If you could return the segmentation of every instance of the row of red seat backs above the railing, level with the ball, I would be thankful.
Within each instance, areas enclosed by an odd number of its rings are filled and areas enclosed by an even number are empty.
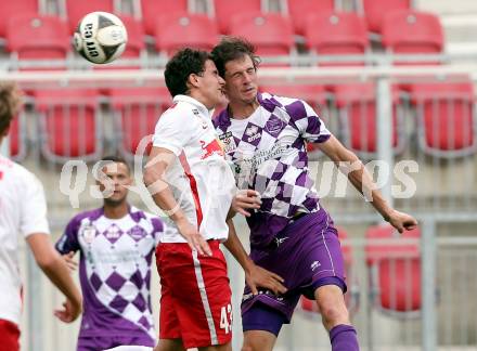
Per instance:
[[[129,34],[129,43],[124,57],[143,56],[146,49],[145,34],[152,35],[155,39],[155,50],[166,55],[171,55],[185,46],[210,50],[219,39],[220,23],[216,23],[205,14],[173,11],[153,13],[154,24],[151,24],[153,29],[149,28],[149,25],[143,27],[132,17],[121,16]],[[382,17],[382,42],[389,52],[398,54],[442,52],[442,28],[439,18],[435,15],[412,10],[397,10],[388,11]],[[75,22],[70,22],[68,27],[68,24],[59,16],[40,16],[28,12],[12,15],[4,21],[7,50],[17,60],[65,60],[72,50],[70,34],[77,22],[75,16],[72,18],[75,18]],[[293,55],[297,51],[294,23],[287,16],[280,13],[241,11],[227,16],[227,31],[248,38],[261,56]],[[299,23],[302,26],[300,30],[305,37],[305,48],[311,53],[364,55],[370,51],[365,21],[357,13],[308,12]],[[339,64],[343,63],[328,62],[322,65]],[[347,64],[363,65],[364,57]]]

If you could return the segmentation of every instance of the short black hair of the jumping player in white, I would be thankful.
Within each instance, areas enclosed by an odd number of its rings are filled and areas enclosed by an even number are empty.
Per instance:
[[[164,72],[164,78],[172,98],[189,92],[189,76],[203,73],[207,60],[211,60],[208,52],[190,48],[180,50],[169,60]]]

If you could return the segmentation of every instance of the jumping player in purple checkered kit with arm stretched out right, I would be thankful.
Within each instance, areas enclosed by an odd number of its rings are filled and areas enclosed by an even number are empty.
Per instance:
[[[399,232],[414,218],[390,208],[373,186],[358,157],[330,133],[317,113],[299,99],[259,93],[258,56],[253,46],[227,37],[211,52],[225,80],[229,105],[214,121],[240,188],[261,194],[261,207],[247,218],[250,257],[285,280],[287,292],[250,294],[242,301],[243,350],[272,350],[301,295],[314,299],[333,351],[359,350],[345,306],[344,259],[337,231],[320,206],[308,172],[306,143],[317,143],[335,162],[359,165],[349,180],[371,194],[373,207]]]

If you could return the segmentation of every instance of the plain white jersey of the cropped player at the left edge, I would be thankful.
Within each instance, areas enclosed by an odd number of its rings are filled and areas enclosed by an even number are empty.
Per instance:
[[[22,311],[18,234],[50,233],[39,180],[0,155],[0,320],[20,324]]]

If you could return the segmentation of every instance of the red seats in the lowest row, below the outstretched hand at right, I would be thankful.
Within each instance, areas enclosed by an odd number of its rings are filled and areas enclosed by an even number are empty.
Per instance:
[[[348,283],[346,303],[350,313],[359,307],[359,286],[354,284],[352,248],[347,243],[348,235],[338,229],[345,257]],[[418,239],[418,229],[398,234],[390,225],[376,225],[368,229],[365,239],[365,260],[370,271],[370,297],[372,306],[383,313],[398,317],[414,317],[422,307],[421,257],[417,243],[386,243],[391,239]],[[320,312],[317,303],[301,298],[300,308],[305,312]]]

